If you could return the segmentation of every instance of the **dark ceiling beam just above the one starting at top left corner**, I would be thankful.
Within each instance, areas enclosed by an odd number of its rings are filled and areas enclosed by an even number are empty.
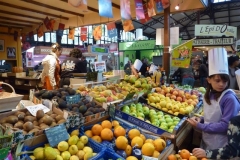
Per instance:
[[[55,6],[51,6],[51,5],[48,5],[48,4],[44,4],[44,3],[41,3],[41,2],[37,2],[37,1],[33,1],[33,0],[21,0],[21,1],[26,2],[26,3],[30,3],[30,4],[33,4],[33,5],[45,7],[45,8],[51,9],[51,10],[55,10],[55,11],[59,11],[59,12],[67,13],[67,14],[72,14],[72,15],[75,15],[75,16],[84,17],[83,14],[80,14],[80,13],[77,13],[77,12],[72,12],[72,11],[69,11],[69,10],[65,10],[65,9],[55,7]]]

